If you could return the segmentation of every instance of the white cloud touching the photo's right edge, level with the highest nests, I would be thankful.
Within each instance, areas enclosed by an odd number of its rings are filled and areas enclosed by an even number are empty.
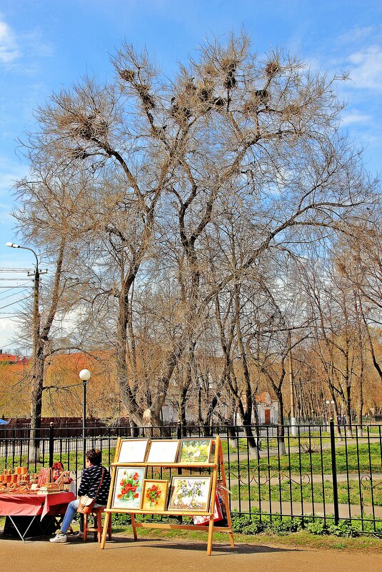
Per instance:
[[[382,46],[374,44],[348,56],[350,77],[360,89],[382,91]]]

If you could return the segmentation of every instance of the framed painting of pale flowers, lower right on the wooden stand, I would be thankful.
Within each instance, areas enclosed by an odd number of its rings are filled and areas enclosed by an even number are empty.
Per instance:
[[[191,514],[208,511],[211,478],[211,475],[173,475],[167,510],[172,513],[189,512]]]

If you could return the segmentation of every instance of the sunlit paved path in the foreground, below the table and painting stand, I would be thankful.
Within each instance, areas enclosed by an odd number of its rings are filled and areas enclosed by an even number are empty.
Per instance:
[[[184,540],[116,539],[101,551],[97,543],[51,544],[0,538],[1,568],[11,572],[381,572],[382,555],[301,547],[240,544],[213,546]]]

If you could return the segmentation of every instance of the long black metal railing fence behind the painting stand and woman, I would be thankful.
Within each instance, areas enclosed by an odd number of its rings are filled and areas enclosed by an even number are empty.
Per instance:
[[[248,428],[247,428],[248,429]],[[364,533],[382,534],[382,427],[215,426],[223,444],[230,505],[240,516],[292,518],[325,525],[350,521]],[[0,470],[28,465],[32,472],[61,461],[80,477],[84,448],[101,448],[104,464],[114,459],[123,437],[180,438],[206,435],[192,426],[50,428],[39,432],[39,446],[29,430],[12,435],[0,430]],[[168,471],[171,475],[171,471]]]

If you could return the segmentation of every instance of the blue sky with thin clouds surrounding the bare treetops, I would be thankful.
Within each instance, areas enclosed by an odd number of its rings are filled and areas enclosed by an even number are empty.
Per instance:
[[[109,55],[126,39],[146,46],[169,75],[207,36],[245,28],[253,48],[263,54],[276,46],[300,56],[314,69],[341,73],[351,81],[339,92],[348,106],[343,129],[366,147],[365,162],[381,169],[382,1],[381,0],[1,0],[0,1],[0,267],[31,266],[33,256],[7,249],[16,241],[9,215],[13,181],[27,164],[17,139],[34,131],[33,111],[52,91],[84,74],[112,78]],[[25,278],[25,275],[17,275]],[[0,274],[0,348],[14,348],[15,306],[31,284],[17,285]],[[29,289],[28,289],[29,288]],[[4,300],[4,301],[2,301]],[[4,313],[9,311],[10,315]]]

